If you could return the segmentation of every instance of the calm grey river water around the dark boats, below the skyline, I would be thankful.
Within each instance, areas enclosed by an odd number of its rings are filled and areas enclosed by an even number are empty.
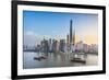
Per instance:
[[[36,60],[35,57],[43,56],[45,54],[35,52],[23,53],[23,68],[35,69],[35,68],[52,68],[52,67],[78,67],[78,66],[96,66],[98,64],[98,56],[94,54],[87,54],[86,64],[72,62],[68,54],[46,54],[46,59]]]

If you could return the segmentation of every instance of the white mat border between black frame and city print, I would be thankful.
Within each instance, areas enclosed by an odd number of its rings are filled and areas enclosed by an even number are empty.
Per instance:
[[[62,67],[62,68],[41,68],[23,69],[23,10],[29,11],[50,11],[69,13],[97,13],[98,14],[98,66]],[[60,72],[80,72],[102,70],[102,10],[77,9],[77,8],[57,8],[39,5],[17,5],[17,76],[44,75]]]

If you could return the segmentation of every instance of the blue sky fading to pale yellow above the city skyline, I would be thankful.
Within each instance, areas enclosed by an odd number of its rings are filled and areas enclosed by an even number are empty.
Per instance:
[[[23,11],[24,43],[37,44],[44,37],[66,39],[70,20],[73,21],[76,43],[80,41],[86,44],[98,43],[97,14]]]

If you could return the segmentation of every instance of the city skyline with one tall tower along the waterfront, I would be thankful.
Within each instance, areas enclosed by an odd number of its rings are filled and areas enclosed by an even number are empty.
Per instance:
[[[46,39],[44,38],[40,44],[35,46],[23,46],[24,50],[34,50],[34,52],[43,52],[43,53],[73,53],[73,52],[84,52],[84,53],[98,53],[98,45],[84,44],[82,41],[75,43],[75,30],[72,28],[72,20],[70,21],[70,33],[66,35],[65,39]]]

